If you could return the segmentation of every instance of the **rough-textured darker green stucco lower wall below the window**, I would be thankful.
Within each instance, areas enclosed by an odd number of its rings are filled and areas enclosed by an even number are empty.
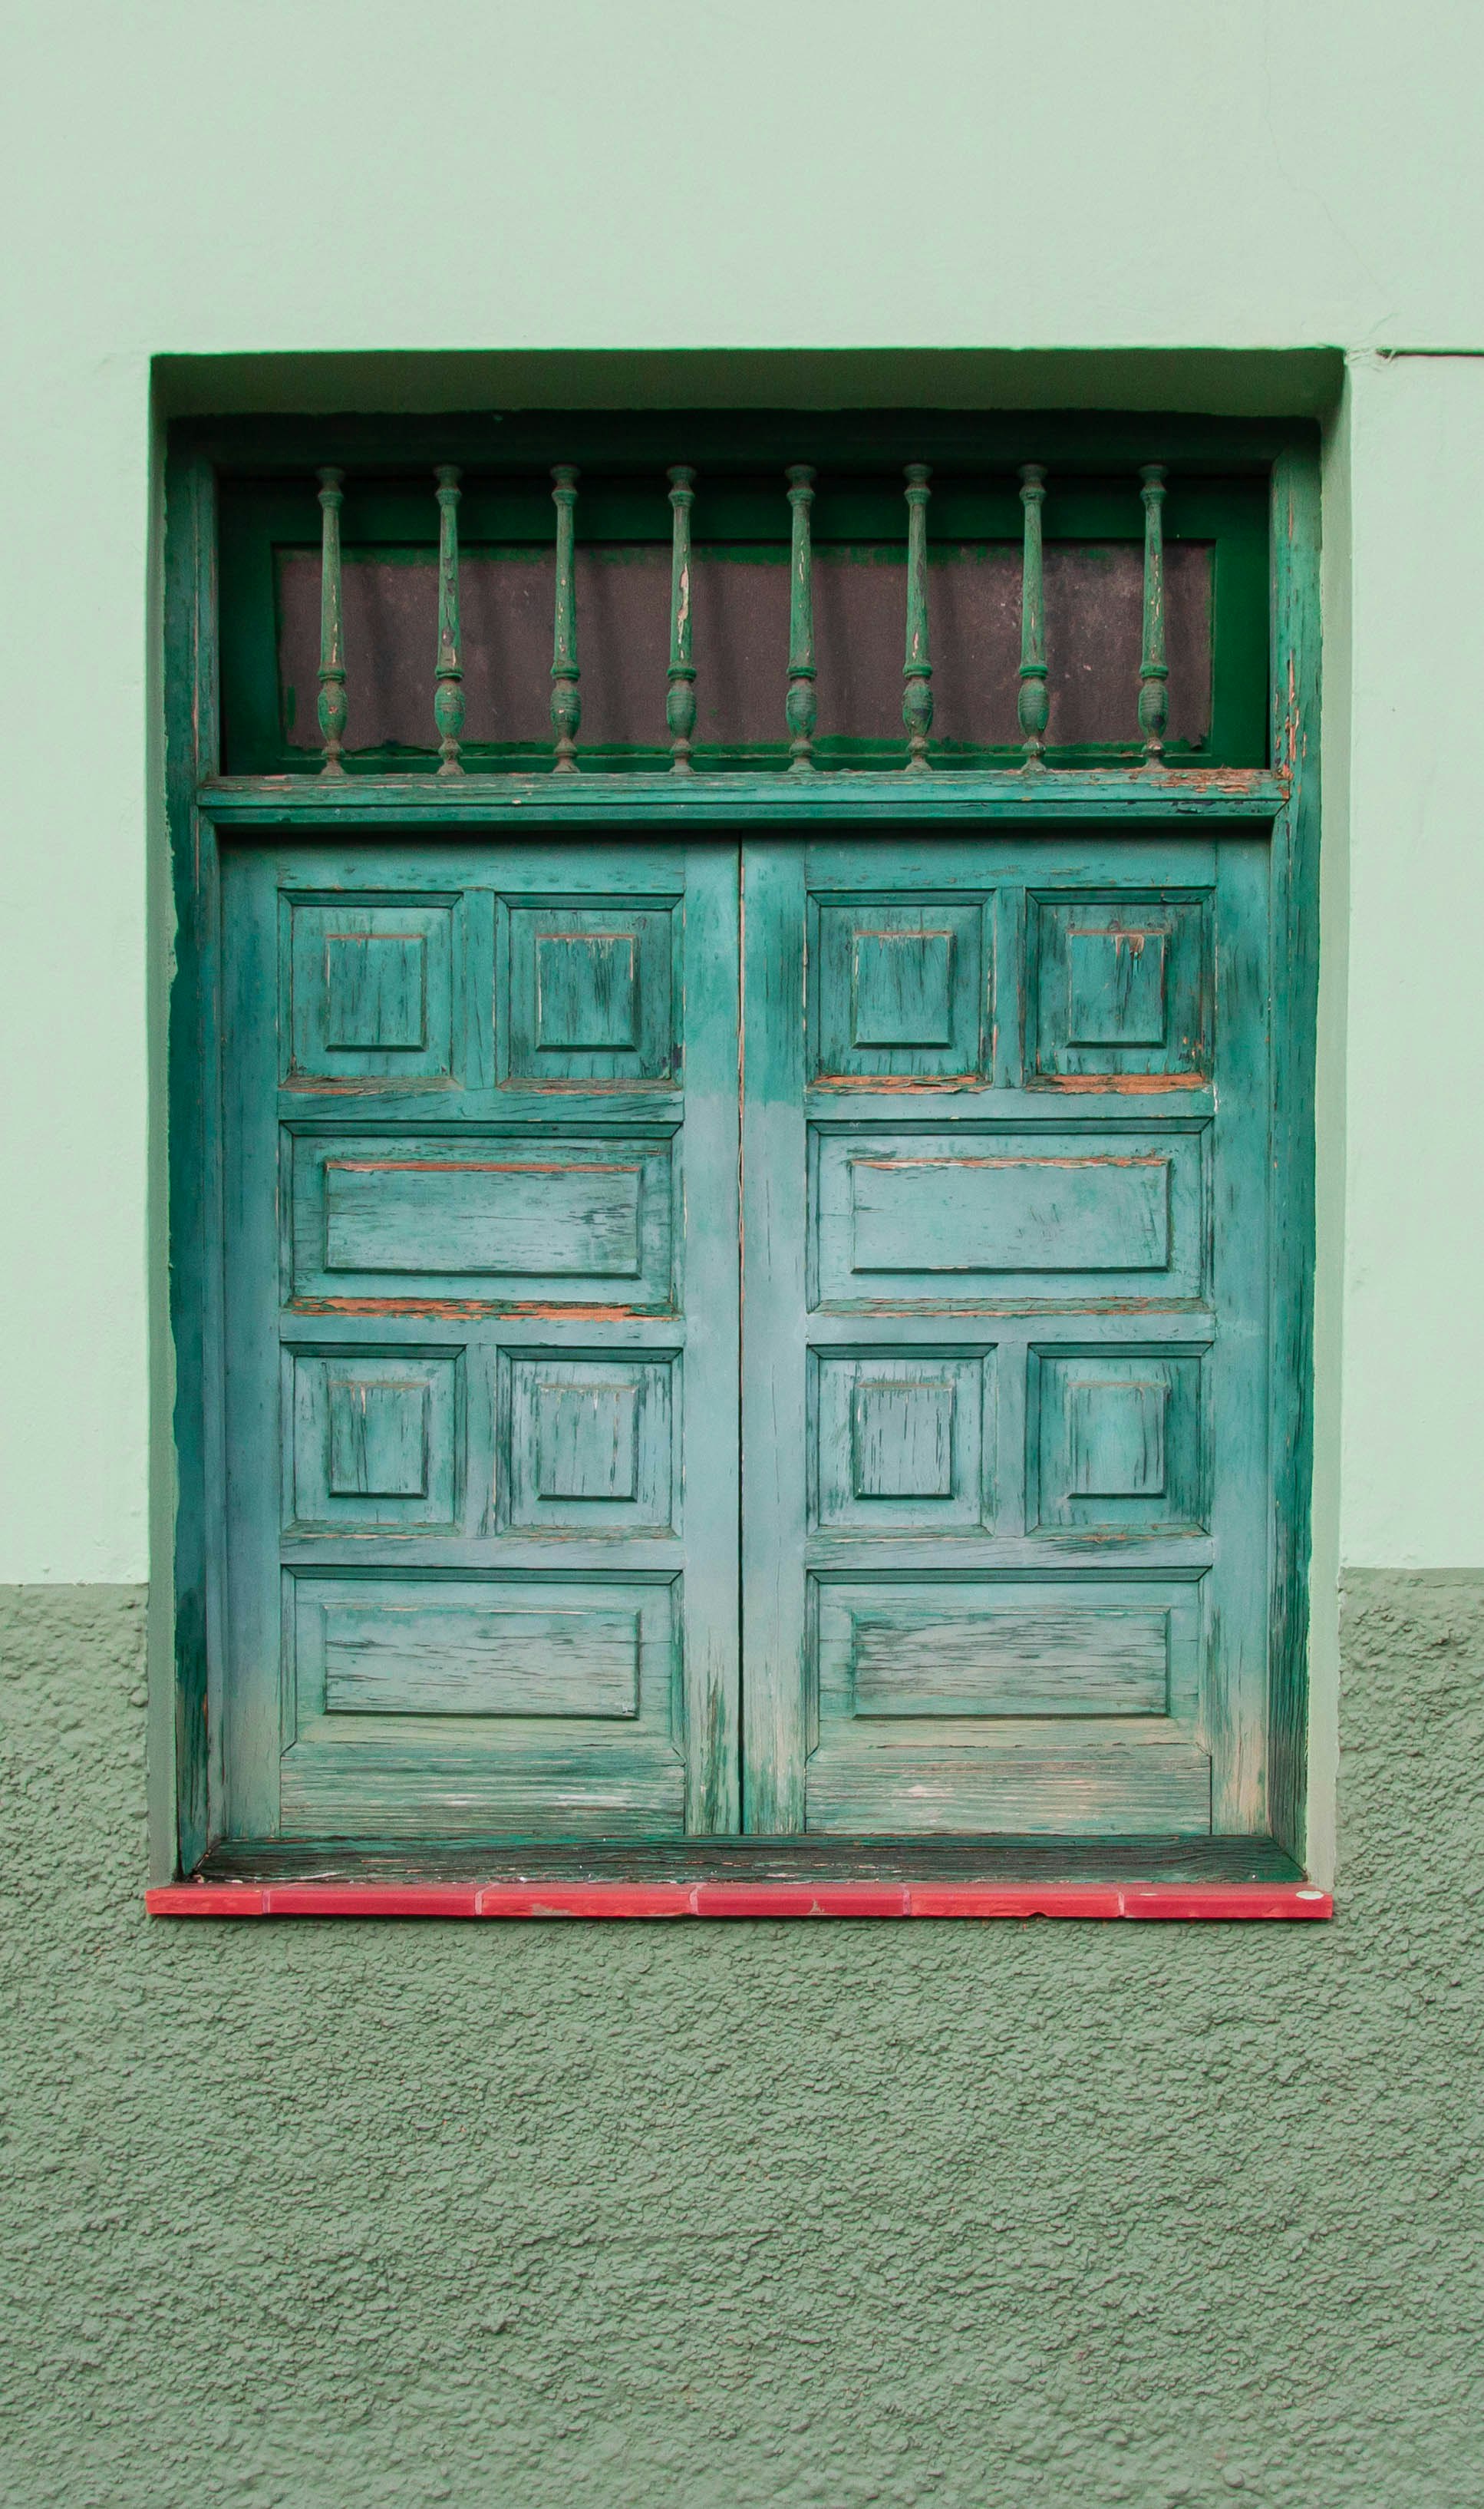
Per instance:
[[[1331,1927],[150,1924],[143,1596],[0,1666],[8,2509],[1484,2496],[1484,1578]]]

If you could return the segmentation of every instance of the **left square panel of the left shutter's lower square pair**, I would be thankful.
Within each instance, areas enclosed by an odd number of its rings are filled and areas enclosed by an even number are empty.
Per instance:
[[[291,1533],[429,1533],[459,1518],[459,1350],[286,1350]]]

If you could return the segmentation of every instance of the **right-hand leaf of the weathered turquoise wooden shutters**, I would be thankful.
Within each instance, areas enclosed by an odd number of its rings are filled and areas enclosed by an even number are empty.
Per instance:
[[[745,848],[757,1832],[1263,1822],[1266,848]]]

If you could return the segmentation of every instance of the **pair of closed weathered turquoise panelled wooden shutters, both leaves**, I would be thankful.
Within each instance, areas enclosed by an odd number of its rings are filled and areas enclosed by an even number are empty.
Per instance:
[[[238,846],[236,1837],[1266,1817],[1243,835]]]

